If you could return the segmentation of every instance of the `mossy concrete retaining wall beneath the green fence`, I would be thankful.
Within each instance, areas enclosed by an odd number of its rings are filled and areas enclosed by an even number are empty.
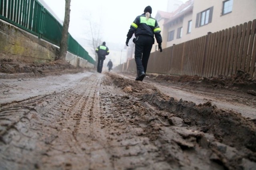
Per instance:
[[[59,47],[0,20],[0,58],[26,63],[47,63],[57,59],[58,53]],[[66,61],[75,67],[94,67],[87,60],[69,52],[67,52]]]

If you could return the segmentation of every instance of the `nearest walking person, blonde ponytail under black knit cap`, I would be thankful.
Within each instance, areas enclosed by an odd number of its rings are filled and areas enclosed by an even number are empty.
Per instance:
[[[142,81],[145,77],[147,70],[148,59],[152,45],[154,44],[154,36],[158,43],[158,49],[162,52],[162,36],[160,34],[161,29],[158,26],[157,21],[151,17],[152,8],[147,6],[144,9],[144,13],[137,16],[134,22],[130,26],[130,30],[127,34],[126,45],[132,35],[135,34],[135,62],[137,66],[137,74],[135,80]]]

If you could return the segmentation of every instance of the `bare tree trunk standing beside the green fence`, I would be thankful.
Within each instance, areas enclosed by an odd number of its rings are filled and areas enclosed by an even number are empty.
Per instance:
[[[65,17],[64,17],[64,23],[62,28],[62,38],[60,42],[60,53],[59,53],[59,59],[65,59],[66,53],[68,50],[68,27],[69,27],[69,21],[70,21],[70,2],[71,0],[65,0]]]

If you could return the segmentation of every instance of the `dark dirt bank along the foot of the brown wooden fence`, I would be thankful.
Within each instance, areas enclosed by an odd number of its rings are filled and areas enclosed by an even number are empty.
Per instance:
[[[173,83],[178,85],[190,85],[193,87],[207,87],[212,89],[228,89],[241,91],[256,96],[256,77],[252,77],[243,70],[238,70],[236,75],[218,77],[199,76],[172,76],[172,75],[150,75],[149,77],[160,82]]]

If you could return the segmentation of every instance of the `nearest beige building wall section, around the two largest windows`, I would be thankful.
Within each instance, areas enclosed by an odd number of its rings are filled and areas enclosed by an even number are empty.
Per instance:
[[[194,0],[191,38],[205,36],[256,19],[256,0],[233,0],[232,12],[222,16],[224,0]],[[214,6],[212,22],[196,27],[196,14]]]

